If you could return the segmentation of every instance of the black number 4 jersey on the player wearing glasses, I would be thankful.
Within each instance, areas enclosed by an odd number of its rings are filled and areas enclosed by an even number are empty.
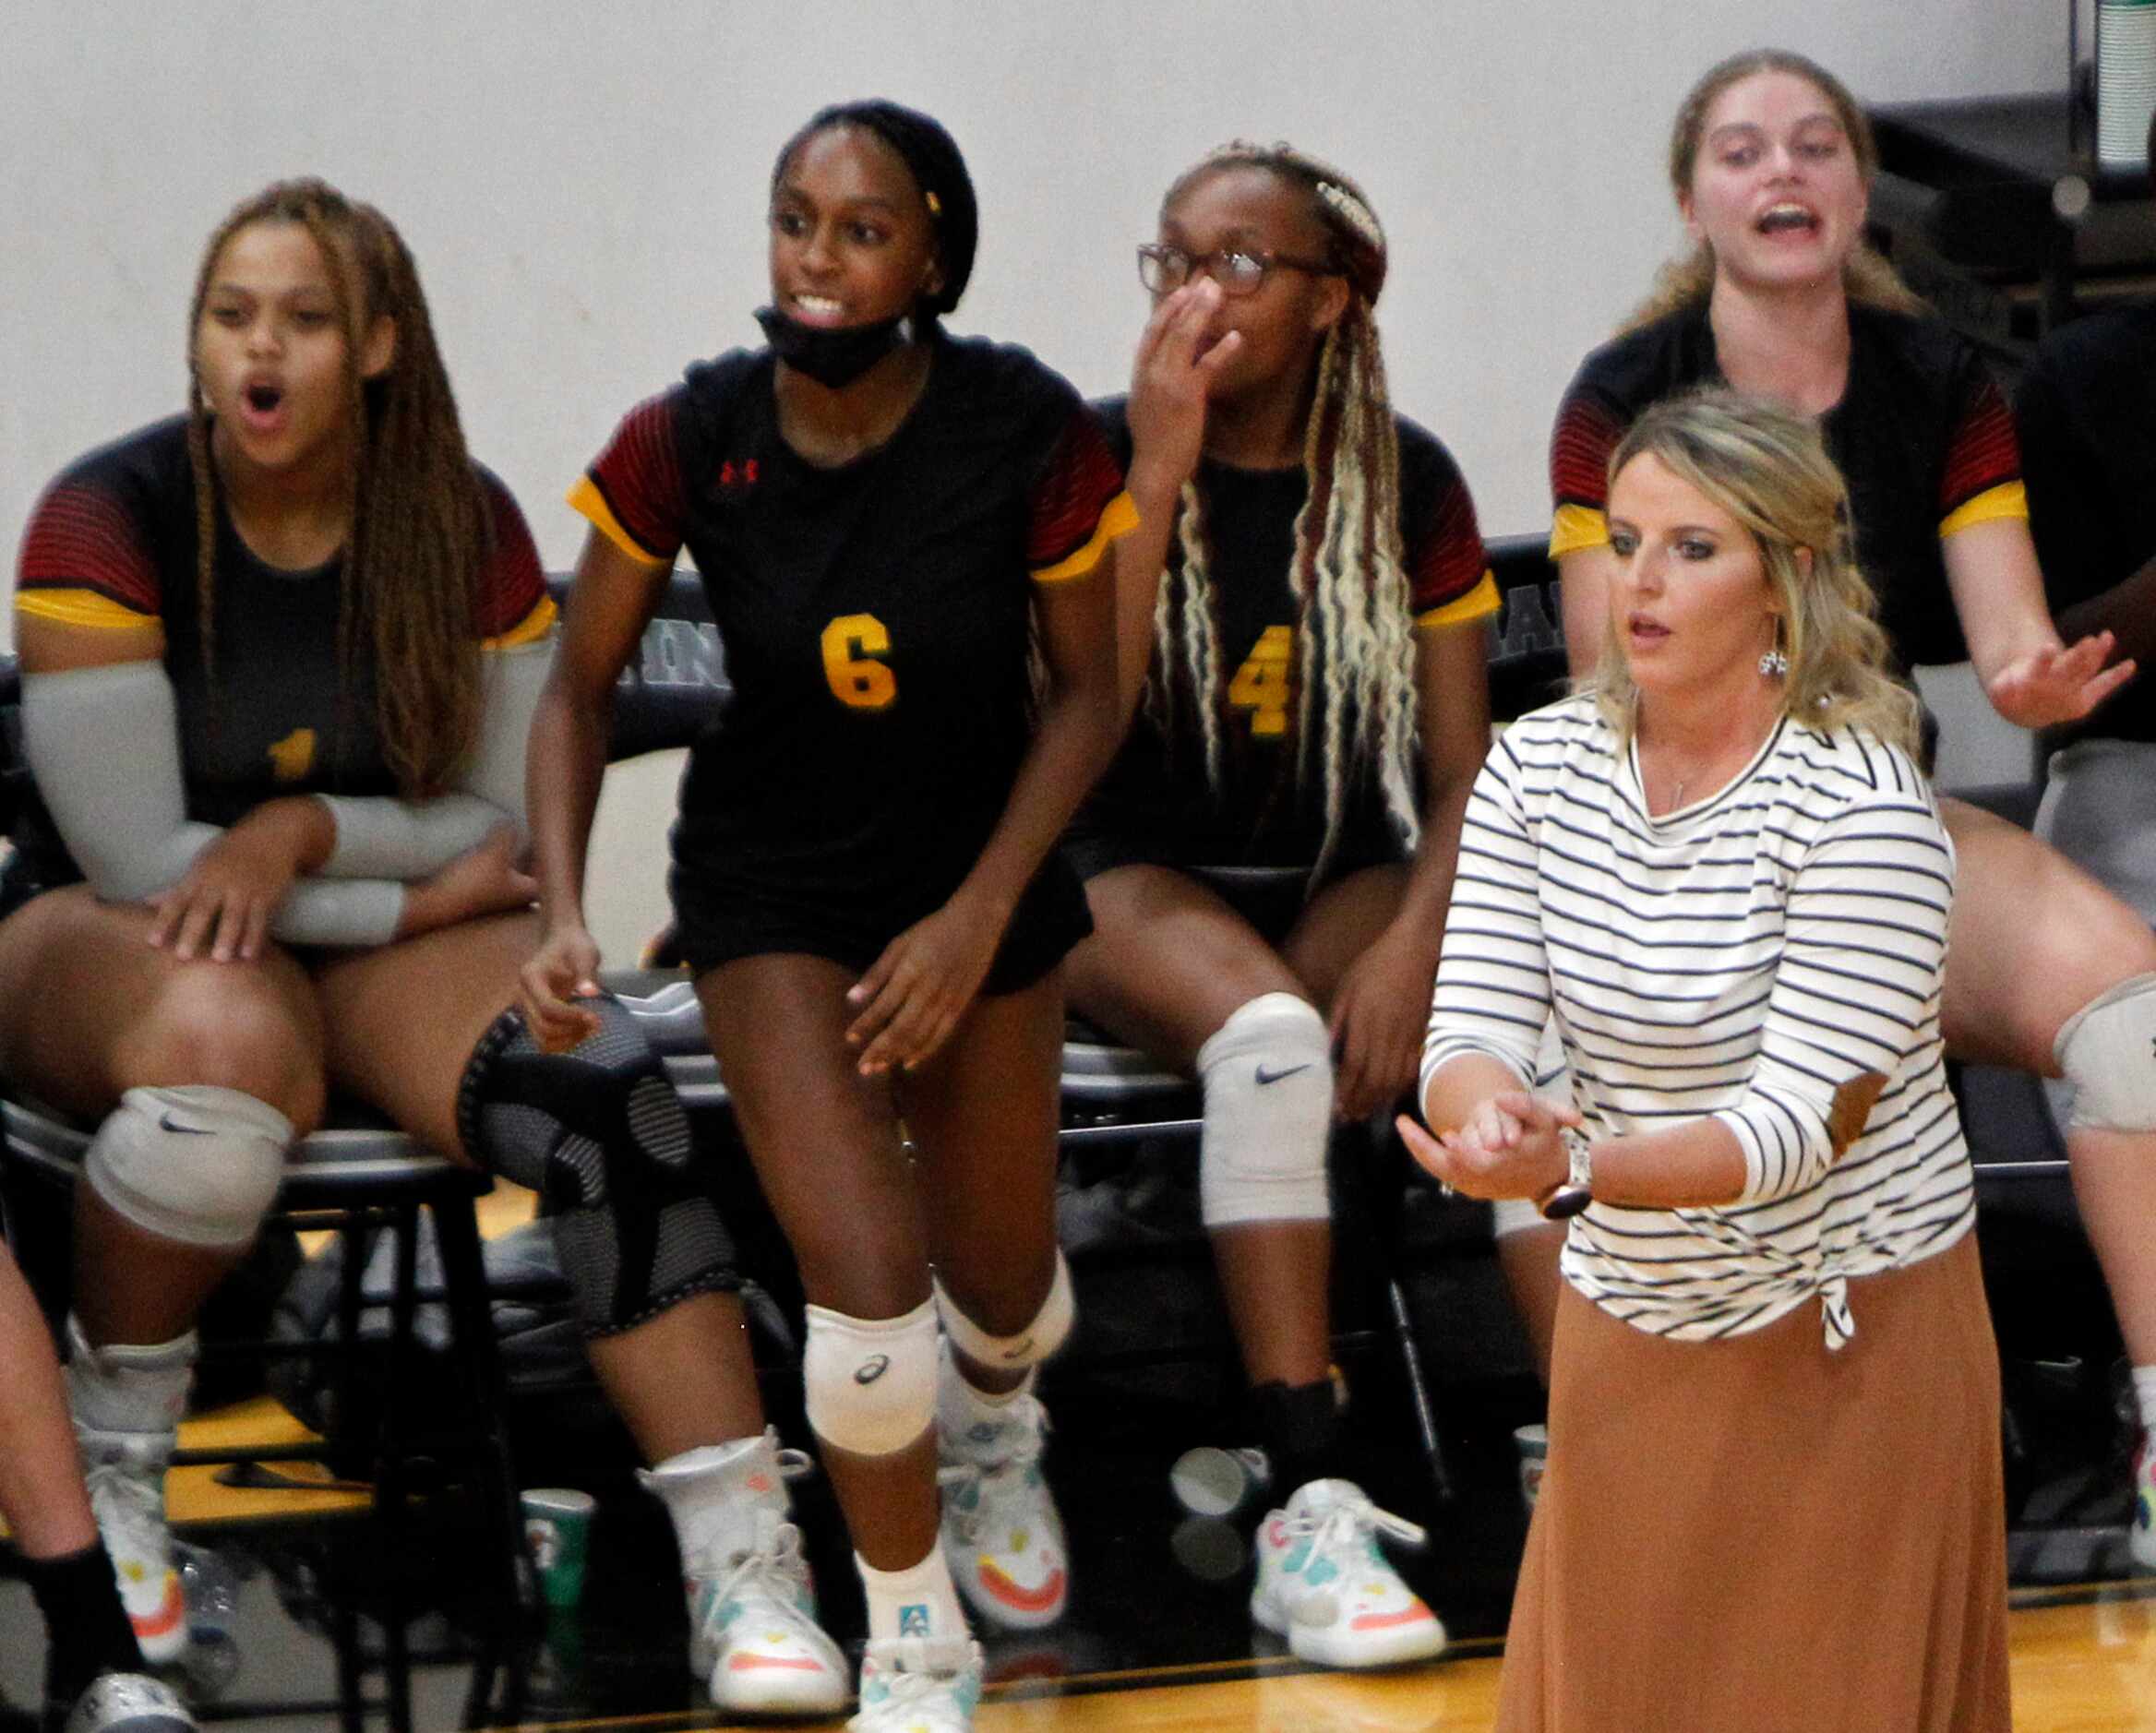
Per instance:
[[[1128,463],[1125,401],[1110,397],[1095,410]],[[1455,625],[1494,614],[1496,580],[1460,466],[1416,422],[1395,416],[1395,427],[1399,541],[1414,625]],[[1214,789],[1207,778],[1205,741],[1190,707],[1177,703],[1164,726],[1147,701],[1087,802],[1078,830],[1149,843],[1153,851],[1147,858],[1166,864],[1309,866],[1326,834],[1324,772],[1311,759],[1298,776],[1302,610],[1289,582],[1296,515],[1309,494],[1309,476],[1302,466],[1242,470],[1205,459],[1197,485],[1220,644],[1220,787]],[[1162,582],[1173,584],[1179,571],[1177,537]],[[1319,623],[1319,660],[1322,634]],[[1179,683],[1177,698],[1184,690]],[[1365,849],[1388,851],[1397,843],[1376,778],[1358,778],[1343,836]]]

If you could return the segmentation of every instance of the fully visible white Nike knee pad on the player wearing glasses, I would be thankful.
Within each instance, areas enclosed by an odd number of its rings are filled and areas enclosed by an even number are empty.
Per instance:
[[[1332,1037],[1317,1009],[1294,994],[1238,1004],[1199,1048],[1199,1082],[1205,1226],[1326,1220]]]

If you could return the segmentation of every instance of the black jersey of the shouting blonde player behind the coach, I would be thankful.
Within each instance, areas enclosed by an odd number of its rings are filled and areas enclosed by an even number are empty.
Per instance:
[[[1550,438],[1550,558],[1608,541],[1608,459],[1649,403],[1727,384],[1708,306],[1684,306],[1595,349]],[[2027,517],[2014,418],[1981,356],[1943,321],[1850,306],[1850,382],[1820,422],[1850,485],[1856,563],[1904,666],[1962,662],[1968,647],[1940,543],[1994,517]]]

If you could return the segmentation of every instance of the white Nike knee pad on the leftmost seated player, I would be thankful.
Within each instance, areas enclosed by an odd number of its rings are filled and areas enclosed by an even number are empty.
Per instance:
[[[254,1239],[289,1147],[291,1121],[237,1089],[129,1089],[91,1138],[82,1173],[144,1233],[229,1250]]]

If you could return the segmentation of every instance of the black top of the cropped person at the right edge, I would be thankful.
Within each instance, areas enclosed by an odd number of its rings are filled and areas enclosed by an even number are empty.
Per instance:
[[[2063,612],[2156,554],[2156,302],[2046,336],[2014,392],[2014,420],[2044,591]],[[2156,739],[2156,683],[2128,681],[2076,733]]]

